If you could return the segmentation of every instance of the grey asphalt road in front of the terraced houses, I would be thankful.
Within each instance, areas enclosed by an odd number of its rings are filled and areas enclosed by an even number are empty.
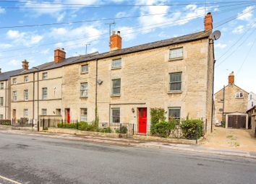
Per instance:
[[[256,160],[0,133],[0,183],[15,182],[255,184]]]

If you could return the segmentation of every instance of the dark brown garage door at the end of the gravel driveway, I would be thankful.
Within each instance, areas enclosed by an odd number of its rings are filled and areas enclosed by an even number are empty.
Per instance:
[[[246,127],[246,115],[229,115],[228,116],[229,128],[245,128]]]

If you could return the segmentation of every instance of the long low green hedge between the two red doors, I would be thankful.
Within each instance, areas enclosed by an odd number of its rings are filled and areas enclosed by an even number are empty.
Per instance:
[[[80,131],[97,131],[103,133],[111,133],[111,128],[98,128],[96,123],[87,123],[87,122],[79,122],[79,123],[58,123],[58,128],[72,128]]]

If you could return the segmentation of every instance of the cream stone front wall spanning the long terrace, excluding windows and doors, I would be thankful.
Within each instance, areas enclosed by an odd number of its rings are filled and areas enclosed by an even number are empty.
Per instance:
[[[61,109],[64,120],[65,111],[70,110],[71,120],[80,121],[81,108],[88,109],[88,122],[95,120],[95,102],[97,87],[97,110],[99,121],[111,122],[111,109],[120,108],[121,123],[138,125],[138,108],[147,108],[148,130],[150,129],[150,108],[181,108],[181,118],[200,118],[208,122],[210,130],[212,107],[212,77],[213,77],[213,45],[209,40],[196,40],[190,43],[155,48],[149,51],[129,53],[123,56],[87,61],[63,66],[58,69],[39,72],[39,115],[43,108],[48,115],[56,115],[56,109]],[[169,60],[171,48],[183,47],[184,57]],[[114,52],[114,51],[113,51]],[[111,69],[111,61],[121,58],[121,68]],[[87,74],[81,74],[81,66],[88,64]],[[98,76],[96,71],[98,67]],[[43,72],[48,73],[48,79],[43,80]],[[169,74],[182,72],[182,90],[169,92]],[[35,75],[35,82],[33,78]],[[29,76],[29,82],[24,82],[24,76]],[[17,84],[12,84],[12,92],[17,91],[17,102],[12,102],[12,110],[16,117],[24,116],[24,109],[29,110],[29,118],[38,115],[38,82],[35,74],[13,76]],[[96,77],[102,81],[97,84]],[[12,80],[11,79],[11,80]],[[112,79],[121,79],[121,95],[111,95]],[[88,97],[80,96],[80,84],[88,82]],[[42,100],[42,88],[47,87],[48,98]],[[24,100],[24,90],[29,91],[29,100]],[[35,101],[33,101],[33,90]],[[135,110],[135,112],[132,112]],[[34,115],[33,115],[34,111]],[[166,114],[166,118],[168,113]]]

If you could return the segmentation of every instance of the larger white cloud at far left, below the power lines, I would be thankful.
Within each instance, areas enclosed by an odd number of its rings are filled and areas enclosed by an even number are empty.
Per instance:
[[[42,35],[36,35],[34,32],[20,32],[18,30],[8,30],[7,38],[12,40],[13,43],[30,46],[39,43],[43,40]]]

